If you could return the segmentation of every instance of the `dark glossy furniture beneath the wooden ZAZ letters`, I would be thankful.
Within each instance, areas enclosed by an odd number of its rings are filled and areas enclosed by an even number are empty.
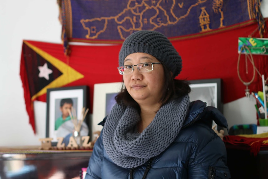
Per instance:
[[[1,179],[79,178],[91,150],[0,148]]]

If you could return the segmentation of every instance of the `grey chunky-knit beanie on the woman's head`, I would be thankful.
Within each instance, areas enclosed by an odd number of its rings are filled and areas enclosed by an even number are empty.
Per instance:
[[[129,54],[150,54],[167,65],[175,78],[182,70],[182,59],[168,38],[157,31],[136,31],[124,41],[119,52],[119,66]]]

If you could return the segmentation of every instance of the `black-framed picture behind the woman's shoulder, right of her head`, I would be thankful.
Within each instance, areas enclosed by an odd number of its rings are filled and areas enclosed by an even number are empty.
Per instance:
[[[189,93],[190,101],[201,100],[207,106],[214,106],[223,114],[222,79],[189,80],[192,91]],[[217,130],[223,129],[217,126]]]

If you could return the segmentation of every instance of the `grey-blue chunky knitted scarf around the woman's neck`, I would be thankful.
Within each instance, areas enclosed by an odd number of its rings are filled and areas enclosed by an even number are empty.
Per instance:
[[[103,144],[108,156],[120,167],[137,167],[159,155],[178,135],[189,108],[189,95],[162,106],[141,134],[134,128],[141,120],[132,107],[115,104],[103,128]]]

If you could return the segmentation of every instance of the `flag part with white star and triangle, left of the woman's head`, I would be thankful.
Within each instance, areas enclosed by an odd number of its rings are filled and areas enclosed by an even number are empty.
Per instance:
[[[23,41],[20,75],[26,110],[35,133],[33,101],[45,102],[48,88],[89,86],[92,90],[88,95],[91,100],[88,101],[92,111],[94,83],[122,80],[117,71],[113,70],[118,66],[116,56],[120,46],[72,46],[71,49],[73,54],[67,57],[61,44]],[[108,50],[109,54],[112,53],[115,59],[107,56],[104,49]],[[110,73],[113,73],[114,77]]]

